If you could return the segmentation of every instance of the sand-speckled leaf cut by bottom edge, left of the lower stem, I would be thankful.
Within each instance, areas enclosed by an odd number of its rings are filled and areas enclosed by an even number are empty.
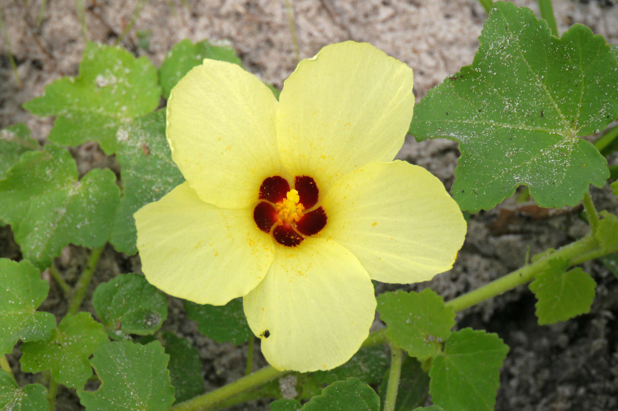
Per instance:
[[[101,386],[95,392],[78,390],[80,402],[86,411],[166,410],[174,402],[167,360],[159,341],[104,344],[90,360]]]

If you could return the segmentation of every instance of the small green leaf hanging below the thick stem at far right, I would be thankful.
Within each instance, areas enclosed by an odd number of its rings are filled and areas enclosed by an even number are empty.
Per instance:
[[[530,283],[535,293],[539,324],[554,324],[590,312],[596,283],[577,267],[566,271],[564,261],[549,261],[549,267]]]

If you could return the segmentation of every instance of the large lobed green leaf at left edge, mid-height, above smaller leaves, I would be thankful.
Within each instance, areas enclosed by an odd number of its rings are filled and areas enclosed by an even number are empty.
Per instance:
[[[120,190],[109,169],[77,179],[70,153],[53,144],[27,152],[0,180],[0,219],[11,224],[24,258],[44,269],[73,243],[106,243]]]

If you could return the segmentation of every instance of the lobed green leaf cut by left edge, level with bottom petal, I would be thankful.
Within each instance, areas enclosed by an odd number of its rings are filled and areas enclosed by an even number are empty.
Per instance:
[[[11,352],[18,340],[47,340],[56,328],[56,318],[39,312],[49,283],[26,259],[0,258],[0,356]]]

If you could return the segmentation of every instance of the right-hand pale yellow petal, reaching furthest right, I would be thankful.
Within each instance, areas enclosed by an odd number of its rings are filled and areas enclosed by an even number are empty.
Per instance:
[[[370,163],[337,181],[323,202],[332,238],[374,280],[430,280],[453,265],[466,223],[444,185],[404,161]]]

